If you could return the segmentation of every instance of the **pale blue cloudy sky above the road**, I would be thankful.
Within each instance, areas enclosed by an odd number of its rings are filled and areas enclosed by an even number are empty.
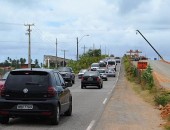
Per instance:
[[[28,61],[28,26],[31,58],[44,55],[76,60],[88,49],[123,56],[129,50],[158,58],[136,30],[170,61],[169,0],[0,0],[0,62],[7,57]],[[87,36],[89,35],[89,36]],[[85,49],[84,49],[85,48]]]

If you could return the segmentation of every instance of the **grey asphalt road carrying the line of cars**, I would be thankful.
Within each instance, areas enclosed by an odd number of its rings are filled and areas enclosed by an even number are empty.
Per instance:
[[[73,113],[71,117],[61,116],[60,124],[49,125],[45,119],[11,119],[8,125],[0,124],[0,130],[92,130],[100,119],[102,112],[118,79],[117,76],[104,81],[103,88],[89,87],[81,89],[81,80],[76,77],[75,84],[70,87],[73,96]]]

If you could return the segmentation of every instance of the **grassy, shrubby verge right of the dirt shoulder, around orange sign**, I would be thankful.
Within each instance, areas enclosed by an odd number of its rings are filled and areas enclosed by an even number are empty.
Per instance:
[[[166,121],[163,124],[165,130],[170,130],[170,108],[166,108],[170,104],[170,91],[161,88],[159,82],[152,74],[152,68],[148,68],[144,71],[139,71],[133,63],[129,60],[130,58],[124,57],[124,67],[126,70],[126,78],[129,86],[146,102],[162,110],[166,109],[166,115],[163,115]],[[163,117],[162,116],[162,117]]]

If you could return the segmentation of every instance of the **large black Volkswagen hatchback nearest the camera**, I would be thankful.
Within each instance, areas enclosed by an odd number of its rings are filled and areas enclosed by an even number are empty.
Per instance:
[[[57,125],[61,114],[72,114],[68,87],[57,70],[11,71],[0,91],[0,122],[6,124],[15,117],[47,117]]]

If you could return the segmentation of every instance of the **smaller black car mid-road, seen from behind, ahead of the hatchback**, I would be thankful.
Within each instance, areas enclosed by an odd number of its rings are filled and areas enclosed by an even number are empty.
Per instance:
[[[98,71],[86,71],[81,79],[81,88],[86,86],[97,86],[99,89],[103,88],[103,80]]]

